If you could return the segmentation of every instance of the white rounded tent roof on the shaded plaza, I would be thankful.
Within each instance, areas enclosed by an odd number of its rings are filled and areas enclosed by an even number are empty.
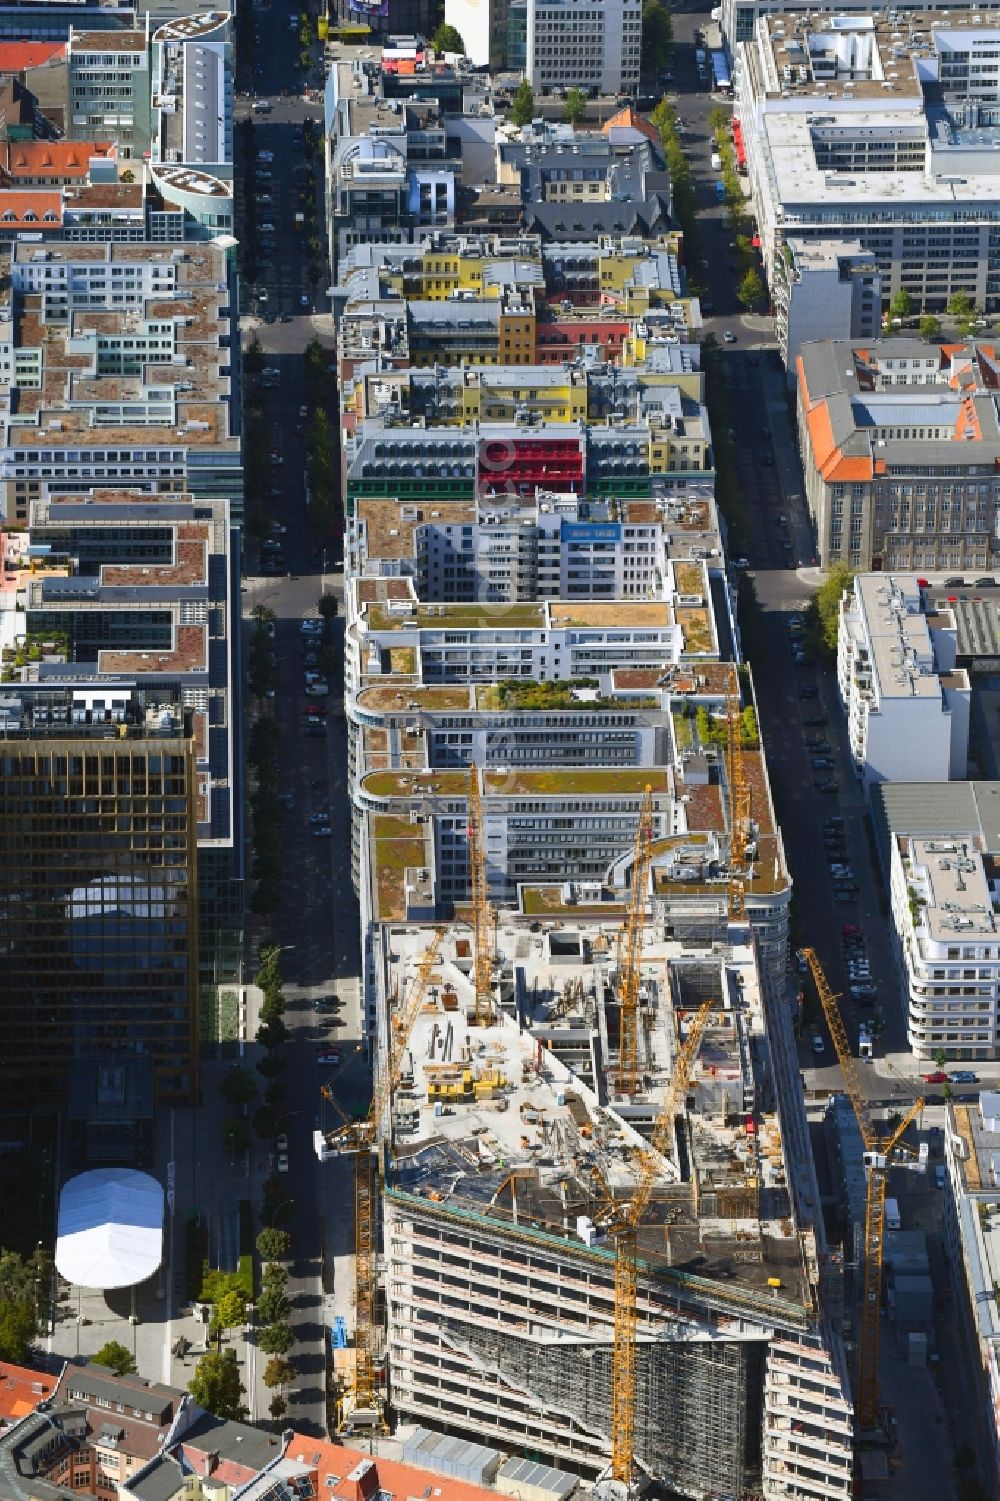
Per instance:
[[[147,1172],[96,1168],[59,1195],[56,1268],[81,1288],[129,1288],[162,1261],[164,1190]]]

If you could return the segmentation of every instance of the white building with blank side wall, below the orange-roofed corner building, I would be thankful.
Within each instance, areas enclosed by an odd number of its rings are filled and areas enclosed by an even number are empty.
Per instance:
[[[965,776],[968,674],[955,620],[928,615],[916,576],[860,573],[841,600],[836,677],[865,796],[874,782]]]

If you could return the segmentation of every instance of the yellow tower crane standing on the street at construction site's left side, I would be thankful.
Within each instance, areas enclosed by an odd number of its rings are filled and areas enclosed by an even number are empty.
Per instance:
[[[384,1066],[378,1072],[368,1115],[362,1121],[348,1121],[326,1138],[327,1147],[354,1157],[354,1409],[374,1412],[375,1426],[381,1426],[383,1415],[375,1381],[374,1349],[375,1214],[378,1207],[378,1172],[374,1159],[383,1123],[390,1118],[392,1091],[399,1082],[402,1058],[443,940],[444,929],[437,928],[423,952],[410,992],[395,1018],[387,1039]]]

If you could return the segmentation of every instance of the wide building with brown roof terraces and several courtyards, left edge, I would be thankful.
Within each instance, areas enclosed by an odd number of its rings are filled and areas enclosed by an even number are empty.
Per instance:
[[[0,248],[0,515],[126,488],[242,515],[233,267],[224,246]]]

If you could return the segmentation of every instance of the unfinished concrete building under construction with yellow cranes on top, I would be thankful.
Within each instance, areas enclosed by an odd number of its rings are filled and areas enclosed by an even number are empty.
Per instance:
[[[357,1154],[371,1370],[347,1363],[348,1427],[419,1421],[698,1501],[851,1493],[842,1268],[790,1022],[749,928],[728,938],[374,929],[395,1087]]]

